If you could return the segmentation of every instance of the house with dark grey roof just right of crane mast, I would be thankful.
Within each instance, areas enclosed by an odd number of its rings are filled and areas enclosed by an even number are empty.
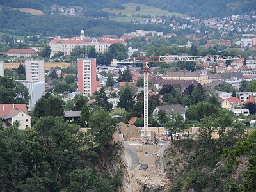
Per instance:
[[[179,113],[184,119],[186,119],[186,108],[184,108],[180,104],[170,104],[170,105],[164,105],[164,106],[156,106],[156,109],[154,109],[154,113],[158,113],[159,111],[166,111],[167,115],[172,116],[173,113]]]

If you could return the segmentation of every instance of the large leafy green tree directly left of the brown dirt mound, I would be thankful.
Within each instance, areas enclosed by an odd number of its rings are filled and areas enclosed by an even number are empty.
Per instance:
[[[100,146],[108,145],[112,139],[113,132],[116,131],[117,122],[112,118],[107,111],[95,111],[90,116],[89,134],[92,135],[94,143]]]

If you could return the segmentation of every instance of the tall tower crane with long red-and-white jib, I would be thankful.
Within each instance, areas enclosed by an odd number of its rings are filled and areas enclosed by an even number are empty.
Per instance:
[[[141,129],[141,140],[151,139],[151,131],[148,129],[148,70],[150,63],[172,63],[180,61],[216,61],[216,60],[237,60],[241,56],[221,56],[221,55],[206,55],[206,56],[139,56],[128,58],[125,60],[111,61],[112,66],[118,64],[143,63],[144,77],[144,127]]]

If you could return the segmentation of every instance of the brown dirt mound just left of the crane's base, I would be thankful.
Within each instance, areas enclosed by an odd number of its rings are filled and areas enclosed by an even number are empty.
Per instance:
[[[140,128],[136,127],[135,125],[128,125],[124,123],[120,123],[119,125],[121,133],[124,134],[125,138],[140,138]]]

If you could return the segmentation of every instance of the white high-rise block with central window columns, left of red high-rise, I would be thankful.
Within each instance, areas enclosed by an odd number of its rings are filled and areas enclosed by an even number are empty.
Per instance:
[[[27,81],[45,81],[44,60],[25,61]]]

